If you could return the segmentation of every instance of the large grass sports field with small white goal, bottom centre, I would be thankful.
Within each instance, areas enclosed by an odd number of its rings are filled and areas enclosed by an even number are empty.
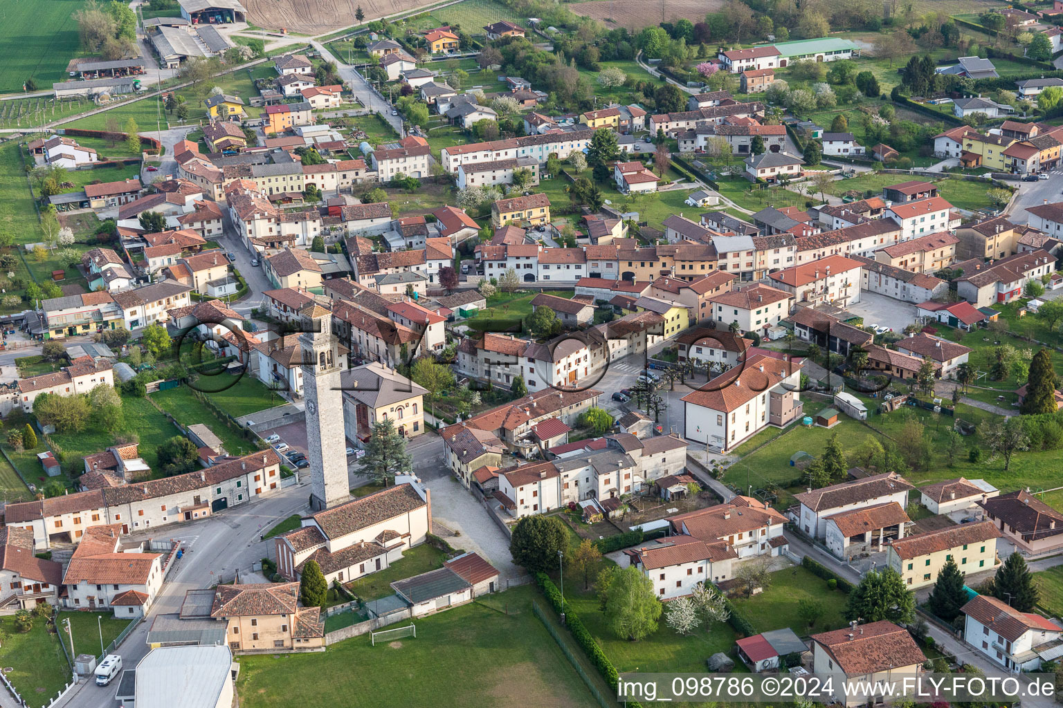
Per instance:
[[[372,696],[377,708],[597,705],[532,614],[533,600],[542,604],[533,586],[523,586],[487,598],[489,606],[477,601],[417,620],[416,639],[372,646],[367,635],[324,654],[240,657],[240,703],[289,706],[290,687],[316,675],[328,678],[302,692],[305,708],[350,703],[352,695]]]

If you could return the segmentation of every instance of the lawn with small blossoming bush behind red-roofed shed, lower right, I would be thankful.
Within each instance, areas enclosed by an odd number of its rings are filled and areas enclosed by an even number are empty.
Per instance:
[[[802,600],[811,600],[823,609],[823,617],[812,627],[797,614]],[[825,580],[802,566],[775,571],[766,590],[752,598],[735,598],[731,602],[760,632],[790,627],[798,637],[804,637],[845,626],[845,618],[842,617],[845,593],[827,589]]]

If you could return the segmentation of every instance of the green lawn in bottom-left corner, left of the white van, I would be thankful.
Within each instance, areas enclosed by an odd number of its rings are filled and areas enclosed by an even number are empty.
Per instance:
[[[72,675],[60,647],[60,635],[48,634],[40,617],[33,619],[30,632],[20,634],[15,631],[15,618],[11,616],[0,617],[0,635],[3,636],[0,666],[12,668],[6,672],[7,680],[32,708],[48,705]]]

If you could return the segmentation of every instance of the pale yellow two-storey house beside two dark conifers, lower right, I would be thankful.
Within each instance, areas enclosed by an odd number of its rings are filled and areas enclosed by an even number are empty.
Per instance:
[[[949,559],[963,574],[983,573],[1000,564],[996,552],[1000,535],[992,521],[945,526],[894,540],[887,563],[911,589],[933,585]]]

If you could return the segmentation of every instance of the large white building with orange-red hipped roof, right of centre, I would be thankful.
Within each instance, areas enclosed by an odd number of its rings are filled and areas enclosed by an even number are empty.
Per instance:
[[[729,450],[769,425],[784,427],[800,416],[800,364],[763,355],[728,369],[706,386],[682,397],[684,436]]]

